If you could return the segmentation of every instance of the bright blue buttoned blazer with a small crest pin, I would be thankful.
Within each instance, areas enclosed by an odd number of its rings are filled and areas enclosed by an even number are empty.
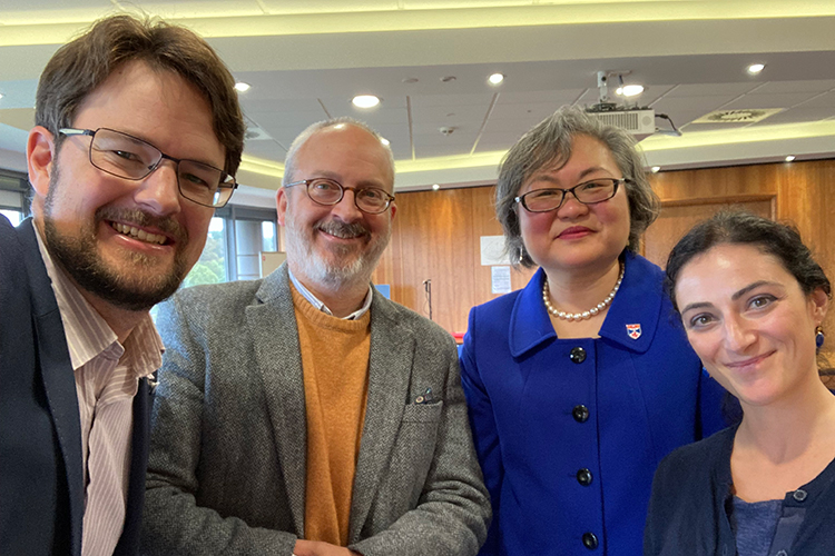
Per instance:
[[[659,461],[724,426],[662,271],[623,260],[600,338],[557,337],[542,269],[470,312],[461,378],[493,504],[480,554],[641,554]]]

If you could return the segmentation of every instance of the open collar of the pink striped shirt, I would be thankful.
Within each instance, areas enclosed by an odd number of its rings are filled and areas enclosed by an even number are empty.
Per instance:
[[[119,344],[116,332],[85,299],[63,269],[59,268],[33,226],[47,275],[52,282],[72,369],[77,370],[104,351],[122,359],[136,378],[153,375],[163,365],[165,347],[150,314],[130,331],[125,344]],[[122,358],[124,356],[124,358]]]

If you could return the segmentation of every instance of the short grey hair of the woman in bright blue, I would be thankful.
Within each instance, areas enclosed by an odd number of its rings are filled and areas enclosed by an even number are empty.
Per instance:
[[[645,170],[644,156],[636,149],[632,136],[589,117],[584,110],[563,106],[522,136],[508,151],[499,167],[495,186],[495,216],[504,229],[504,244],[514,265],[533,267],[522,242],[515,197],[524,182],[546,165],[562,166],[571,157],[576,136],[589,136],[606,145],[623,177],[629,202],[628,249],[637,251],[640,237],[658,218],[660,201],[652,191]]]

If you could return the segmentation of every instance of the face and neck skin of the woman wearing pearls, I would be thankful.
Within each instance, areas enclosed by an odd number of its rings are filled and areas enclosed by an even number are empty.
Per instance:
[[[533,172],[519,195],[536,189],[570,189],[596,178],[622,178],[611,151],[597,139],[577,136],[571,157],[562,166]],[[611,199],[583,205],[573,195],[550,212],[519,210],[519,226],[528,254],[548,276],[551,302],[569,311],[596,306],[615,287],[618,256],[629,241],[629,202],[625,187]],[[596,336],[606,310],[588,320],[568,322],[552,318],[560,337]]]

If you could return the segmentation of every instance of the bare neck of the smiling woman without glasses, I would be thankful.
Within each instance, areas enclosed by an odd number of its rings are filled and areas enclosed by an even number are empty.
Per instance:
[[[766,406],[743,404],[736,445],[774,464],[790,461],[825,441],[835,428],[835,396],[817,373],[787,396]]]

